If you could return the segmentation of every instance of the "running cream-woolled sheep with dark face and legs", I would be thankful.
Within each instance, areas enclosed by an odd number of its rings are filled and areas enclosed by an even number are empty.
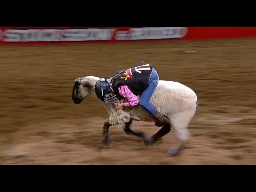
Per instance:
[[[81,103],[87,96],[92,96],[99,100],[95,93],[95,84],[98,80],[100,80],[100,78],[95,76],[86,76],[76,79],[72,92],[74,103]],[[110,126],[125,124],[124,131],[126,134],[133,134],[144,138],[143,144],[147,145],[149,139],[147,134],[142,131],[136,132],[131,130],[130,124],[134,120],[152,122],[154,119],[140,105],[118,110],[117,105],[120,102],[124,102],[124,99],[120,99],[113,104],[102,102],[109,114],[103,126],[103,142],[106,145],[110,142],[110,136],[108,134],[108,128]],[[191,137],[188,131],[188,125],[197,109],[198,101],[196,93],[179,82],[159,80],[150,102],[160,113],[170,120],[170,125],[162,126],[158,132],[162,132],[160,136],[162,137],[173,128],[178,143],[173,150],[168,152],[168,156],[176,156],[181,151],[182,146],[188,143]],[[158,139],[159,138],[157,138],[157,140]]]

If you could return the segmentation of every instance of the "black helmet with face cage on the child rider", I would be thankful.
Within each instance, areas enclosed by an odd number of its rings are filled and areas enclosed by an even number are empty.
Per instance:
[[[114,92],[105,78],[96,82],[95,92],[97,97],[106,103],[114,103],[119,99],[119,96]]]

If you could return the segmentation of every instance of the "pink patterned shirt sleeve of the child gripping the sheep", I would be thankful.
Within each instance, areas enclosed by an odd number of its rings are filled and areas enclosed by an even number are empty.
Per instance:
[[[118,87],[118,91],[119,91],[120,96],[122,96],[123,98],[126,98],[126,100],[127,100],[127,102],[123,103],[123,106],[134,107],[134,106],[138,105],[139,99],[130,90],[130,86],[120,85]]]

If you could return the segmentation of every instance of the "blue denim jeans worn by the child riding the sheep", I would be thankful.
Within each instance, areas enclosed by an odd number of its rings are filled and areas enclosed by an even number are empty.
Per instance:
[[[157,113],[156,108],[149,102],[149,100],[156,89],[158,80],[159,80],[158,73],[153,68],[152,75],[148,80],[148,88],[146,88],[140,96],[140,106],[142,106],[146,111],[148,111],[150,115],[155,115]]]

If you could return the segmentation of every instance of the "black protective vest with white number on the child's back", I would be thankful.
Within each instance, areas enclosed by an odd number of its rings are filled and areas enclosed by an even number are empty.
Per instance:
[[[126,70],[126,74],[130,77],[120,75],[114,82],[112,82],[113,90],[119,95],[118,86],[119,84],[129,85],[131,91],[135,95],[140,95],[148,88],[148,80],[152,73],[153,66],[151,64],[144,64],[138,67],[129,68]]]

